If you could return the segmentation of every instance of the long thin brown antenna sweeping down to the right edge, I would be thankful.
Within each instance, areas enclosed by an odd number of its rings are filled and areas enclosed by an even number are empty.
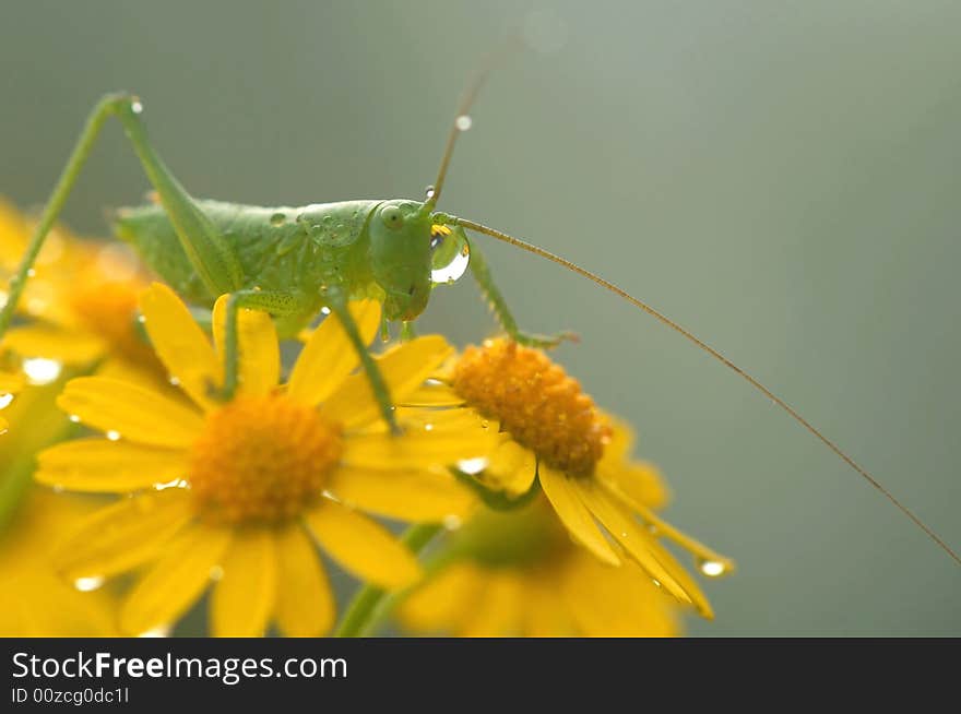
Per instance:
[[[748,374],[740,367],[738,367],[737,365],[732,362],[729,359],[727,359],[727,357],[722,355],[720,352],[717,352],[716,349],[714,349],[713,347],[708,345],[705,342],[703,342],[699,337],[696,337],[692,333],[688,332],[687,330],[681,328],[679,324],[674,322],[674,320],[662,314],[661,312],[659,312],[657,310],[652,308],[650,305],[642,302],[641,300],[633,297],[629,293],[617,287],[614,283],[605,281],[600,275],[595,275],[591,271],[585,270],[585,269],[581,267],[580,265],[572,263],[571,261],[569,261],[565,258],[561,258],[559,255],[555,255],[554,253],[551,253],[547,250],[544,250],[543,248],[538,248],[537,246],[534,246],[532,243],[525,242],[525,241],[520,240],[518,238],[513,238],[512,236],[509,236],[506,233],[501,233],[500,230],[495,230],[494,228],[488,228],[487,226],[482,225],[479,223],[474,223],[473,221],[466,221],[464,218],[458,218],[455,216],[446,216],[446,218],[447,218],[447,221],[446,221],[447,223],[451,223],[451,224],[461,226],[463,228],[467,228],[468,230],[476,230],[477,233],[484,234],[485,236],[490,236],[491,238],[496,238],[497,240],[500,240],[502,242],[514,246],[515,248],[520,248],[521,250],[525,250],[529,253],[534,253],[535,255],[539,255],[541,258],[546,258],[547,260],[549,260],[554,263],[557,263],[558,265],[562,265],[563,267],[568,269],[569,271],[577,273],[578,275],[582,275],[583,277],[586,277],[589,281],[600,285],[604,289],[609,290],[610,293],[614,293],[615,295],[624,298],[625,300],[627,300],[628,302],[633,305],[636,308],[643,310],[644,312],[650,314],[652,318],[654,318],[655,320],[657,320],[662,324],[667,325],[668,328],[671,328],[672,330],[674,330],[678,334],[686,337],[689,342],[692,342],[698,348],[708,353],[709,355],[711,355],[711,357],[713,357],[714,359],[720,361],[722,365],[724,365],[728,369],[736,372],[740,378],[743,378],[745,381],[747,381],[751,386],[754,386],[756,390],[761,392],[761,394],[767,396],[774,404],[776,404],[784,412],[786,412],[788,414],[788,416],[791,416],[792,419],[797,421],[800,426],[803,426],[810,433],[812,433],[821,443],[823,443],[826,447],[828,447],[828,449],[830,449],[838,456],[840,456],[841,460],[844,461],[844,463],[846,463],[854,471],[856,471],[868,484],[870,484],[878,491],[880,491],[891,503],[894,504],[894,507],[899,511],[901,511],[904,515],[906,515],[909,519],[911,519],[911,521],[913,521],[914,524],[918,528],[921,528],[925,533],[925,535],[927,535],[928,538],[934,540],[941,548],[941,550],[944,550],[946,554],[948,554],[954,560],[954,562],[957,562],[959,566],[961,566],[961,558],[958,557],[958,554],[954,552],[950,548],[950,546],[948,546],[948,544],[946,544],[944,540],[941,540],[941,538],[939,538],[938,535],[924,523],[924,521],[922,521],[920,517],[917,517],[906,505],[904,505],[901,501],[899,501],[894,497],[894,495],[891,493],[891,491],[889,491],[887,488],[881,486],[881,484],[874,476],[871,476],[870,473],[868,473],[868,471],[866,468],[861,466],[851,456],[849,456],[846,453],[844,453],[838,444],[835,444],[833,441],[828,439],[828,437],[826,437],[817,428],[815,428],[815,426],[810,421],[808,421],[803,416],[800,416],[800,414],[798,414],[794,409],[794,407],[792,407],[790,404],[787,404],[787,402],[785,402],[780,396],[774,394],[771,390],[769,390],[767,386],[761,384],[757,379],[755,379],[754,377]]]

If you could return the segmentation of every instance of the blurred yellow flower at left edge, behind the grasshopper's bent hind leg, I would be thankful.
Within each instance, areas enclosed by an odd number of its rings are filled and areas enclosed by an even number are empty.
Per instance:
[[[0,285],[20,263],[31,229],[25,216],[0,201]],[[34,383],[56,379],[61,365],[86,366],[105,357],[157,369],[137,328],[137,296],[146,285],[126,246],[56,228],[17,305],[31,322],[8,330],[3,347],[24,360]],[[4,299],[0,288],[0,302]]]

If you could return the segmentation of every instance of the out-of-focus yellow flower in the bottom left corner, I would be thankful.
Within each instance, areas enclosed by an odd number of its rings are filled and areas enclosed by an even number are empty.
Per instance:
[[[55,573],[50,560],[52,545],[102,501],[58,497],[31,483],[36,450],[69,427],[54,404],[58,389],[26,388],[8,407],[11,432],[0,439],[0,493],[4,507],[8,499],[15,504],[0,513],[0,636],[117,633],[116,598],[105,591],[80,592]]]

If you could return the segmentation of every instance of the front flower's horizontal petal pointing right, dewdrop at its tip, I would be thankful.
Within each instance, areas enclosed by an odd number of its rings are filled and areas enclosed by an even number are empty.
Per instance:
[[[493,436],[479,429],[372,433],[345,439],[342,461],[358,468],[430,468],[484,456],[493,445]]]

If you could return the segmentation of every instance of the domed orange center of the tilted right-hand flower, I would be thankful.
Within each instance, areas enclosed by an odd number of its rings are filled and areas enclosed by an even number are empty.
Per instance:
[[[588,475],[604,453],[610,427],[576,379],[538,349],[507,340],[467,347],[454,391],[548,466]]]

